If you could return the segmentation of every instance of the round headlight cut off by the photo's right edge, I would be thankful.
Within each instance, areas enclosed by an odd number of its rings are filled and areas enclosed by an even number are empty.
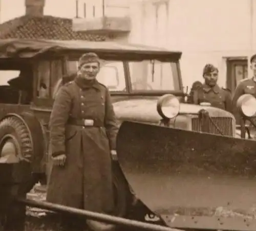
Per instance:
[[[252,117],[256,114],[256,99],[250,94],[239,97],[237,107],[246,117]]]

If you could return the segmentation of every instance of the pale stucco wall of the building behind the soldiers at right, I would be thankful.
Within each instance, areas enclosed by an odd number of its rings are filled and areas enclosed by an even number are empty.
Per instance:
[[[148,0],[134,2],[130,12],[130,41],[183,52],[184,85],[202,80],[203,66],[212,63],[225,86],[226,57],[256,52],[255,0]]]

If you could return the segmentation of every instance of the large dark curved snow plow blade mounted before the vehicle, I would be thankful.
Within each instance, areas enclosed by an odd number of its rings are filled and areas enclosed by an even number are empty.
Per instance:
[[[121,169],[170,227],[256,230],[256,142],[123,122]]]

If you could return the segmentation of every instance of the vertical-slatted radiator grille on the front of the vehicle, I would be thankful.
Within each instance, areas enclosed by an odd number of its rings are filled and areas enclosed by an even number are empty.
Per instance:
[[[218,126],[222,134],[218,129],[210,122],[210,133],[217,135],[233,136],[232,118],[228,117],[211,117],[211,120]],[[201,122],[199,118],[192,119],[192,130],[201,131]]]

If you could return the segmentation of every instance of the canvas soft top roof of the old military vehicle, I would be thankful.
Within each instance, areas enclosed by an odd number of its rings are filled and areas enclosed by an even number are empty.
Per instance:
[[[31,58],[40,54],[64,52],[95,52],[102,55],[144,55],[180,59],[181,52],[115,41],[1,39],[0,58]]]

